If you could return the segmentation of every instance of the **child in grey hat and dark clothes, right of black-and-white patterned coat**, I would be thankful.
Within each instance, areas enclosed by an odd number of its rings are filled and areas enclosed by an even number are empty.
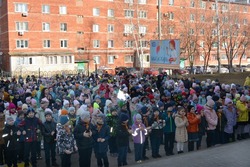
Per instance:
[[[91,166],[91,155],[94,146],[93,125],[90,123],[90,113],[83,111],[80,120],[74,129],[74,137],[78,147],[79,167]]]

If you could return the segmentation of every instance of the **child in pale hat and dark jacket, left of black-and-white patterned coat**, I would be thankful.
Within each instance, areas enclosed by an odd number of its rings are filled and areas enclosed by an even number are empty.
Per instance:
[[[58,166],[56,163],[56,123],[52,118],[52,111],[45,109],[45,122],[43,123],[42,135],[44,138],[44,153],[46,167]],[[51,161],[50,161],[51,160]]]

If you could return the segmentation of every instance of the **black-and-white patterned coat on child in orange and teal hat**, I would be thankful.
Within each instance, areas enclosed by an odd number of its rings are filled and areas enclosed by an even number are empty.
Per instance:
[[[67,133],[61,124],[57,124],[57,145],[59,154],[64,154],[66,150],[74,152],[76,147],[73,133]]]

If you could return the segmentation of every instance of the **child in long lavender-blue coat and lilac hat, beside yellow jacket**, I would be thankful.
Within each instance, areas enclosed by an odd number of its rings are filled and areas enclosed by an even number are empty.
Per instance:
[[[236,108],[233,105],[233,101],[229,98],[225,99],[225,107],[223,107],[223,113],[226,117],[226,125],[224,128],[224,140],[225,143],[235,141],[234,128],[237,123]]]

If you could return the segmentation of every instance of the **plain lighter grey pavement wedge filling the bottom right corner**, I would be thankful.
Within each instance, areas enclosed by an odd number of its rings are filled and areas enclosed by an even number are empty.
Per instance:
[[[250,140],[144,162],[140,167],[249,167]]]

